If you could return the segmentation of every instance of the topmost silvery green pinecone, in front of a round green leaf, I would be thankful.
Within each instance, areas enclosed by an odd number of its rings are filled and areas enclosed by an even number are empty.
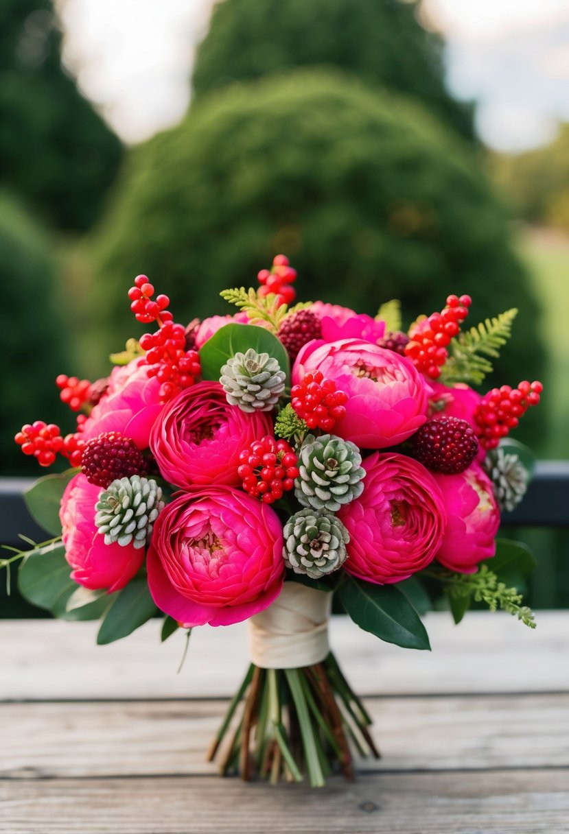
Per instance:
[[[227,360],[219,382],[230,405],[239,405],[242,411],[270,411],[284,391],[284,379],[276,359],[249,348]]]

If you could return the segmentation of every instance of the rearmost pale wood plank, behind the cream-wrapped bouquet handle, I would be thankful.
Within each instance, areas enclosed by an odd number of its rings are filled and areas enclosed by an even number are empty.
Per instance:
[[[432,652],[378,641],[346,617],[331,645],[360,694],[569,691],[569,612],[540,611],[536,631],[507,614],[474,611],[459,626],[426,617]],[[159,620],[127,640],[96,646],[96,623],[0,620],[0,701],[202,697],[232,694],[248,663],[244,623],[195,629],[180,675],[184,636],[161,645]]]

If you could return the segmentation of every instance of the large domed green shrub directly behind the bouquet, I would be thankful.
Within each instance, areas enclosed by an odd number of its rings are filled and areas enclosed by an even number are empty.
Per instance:
[[[501,367],[537,374],[536,303],[501,207],[470,149],[401,98],[323,71],[204,97],[119,178],[96,241],[100,306],[123,339],[144,272],[179,317],[230,312],[219,290],[255,284],[279,252],[300,299],[375,314],[400,298],[411,317],[469,293],[473,324],[518,306]]]

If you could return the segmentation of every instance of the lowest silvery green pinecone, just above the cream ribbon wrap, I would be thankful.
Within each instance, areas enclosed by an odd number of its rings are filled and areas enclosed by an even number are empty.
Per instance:
[[[335,515],[300,510],[284,525],[284,564],[295,573],[320,579],[346,560],[350,534]]]

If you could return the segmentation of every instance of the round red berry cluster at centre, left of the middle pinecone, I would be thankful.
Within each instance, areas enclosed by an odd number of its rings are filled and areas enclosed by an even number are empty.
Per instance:
[[[243,489],[264,504],[274,504],[292,490],[299,476],[298,458],[286,440],[266,435],[239,454],[239,478]]]

